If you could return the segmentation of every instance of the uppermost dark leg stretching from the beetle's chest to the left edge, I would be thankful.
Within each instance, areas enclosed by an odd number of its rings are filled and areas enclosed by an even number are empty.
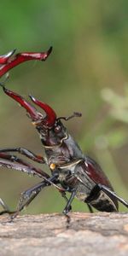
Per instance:
[[[32,151],[30,151],[26,148],[3,148],[3,149],[0,149],[0,153],[2,153],[2,152],[7,152],[7,153],[18,152],[19,154],[23,154],[27,158],[29,158],[35,162],[38,162],[40,164],[45,163],[44,157],[42,157],[41,155],[34,154],[34,153],[32,153]]]

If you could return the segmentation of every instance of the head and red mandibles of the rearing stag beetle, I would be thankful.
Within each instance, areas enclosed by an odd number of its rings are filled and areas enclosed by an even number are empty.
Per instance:
[[[30,102],[27,102],[22,96],[18,95],[12,90],[8,90],[3,84],[1,84],[1,86],[3,87],[3,91],[8,96],[13,98],[16,102],[19,102],[20,106],[26,109],[26,113],[29,118],[32,119],[32,124],[38,130],[44,146],[52,147],[61,143],[61,139],[66,137],[67,132],[61,123],[61,119],[57,119],[55,111],[49,107],[48,104],[40,102],[33,96],[30,96],[32,102],[44,111],[44,113],[40,113],[34,106],[32,106]]]

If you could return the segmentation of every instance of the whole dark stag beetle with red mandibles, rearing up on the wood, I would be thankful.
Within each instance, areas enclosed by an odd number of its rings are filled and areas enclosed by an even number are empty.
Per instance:
[[[12,55],[12,53],[9,55]],[[3,73],[5,72],[4,68]],[[0,149],[0,166],[37,175],[41,178],[40,183],[20,195],[20,201],[15,211],[10,211],[1,199],[0,204],[3,206],[3,212],[0,212],[0,214],[9,213],[12,218],[15,218],[42,189],[51,185],[58,189],[67,202],[63,213],[68,220],[68,212],[72,209],[74,197],[86,203],[90,212],[93,212],[93,207],[102,212],[118,212],[118,201],[128,207],[128,202],[115,194],[108,177],[102,172],[102,168],[95,160],[84,155],[73,137],[68,134],[65,125],[63,125],[62,121],[80,117],[81,113],[73,113],[69,117],[57,117],[55,110],[48,104],[33,96],[29,96],[32,102],[28,102],[19,94],[8,90],[3,83],[1,83],[1,86],[6,95],[19,102],[20,106],[26,109],[27,115],[32,120],[32,125],[38,131],[45,155],[36,155],[26,148]],[[41,108],[43,113],[38,112],[35,106]],[[49,166],[51,175],[49,176],[42,168],[34,167],[17,157],[15,152],[25,155],[28,159],[41,165]],[[67,192],[70,193],[69,199],[67,198]]]

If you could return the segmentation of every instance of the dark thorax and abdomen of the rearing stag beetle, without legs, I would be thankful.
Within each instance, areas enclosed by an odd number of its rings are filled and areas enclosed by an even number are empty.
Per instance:
[[[79,201],[86,202],[90,192],[98,183],[103,183],[113,190],[101,167],[90,157],[84,156],[70,135],[67,135],[67,138],[58,147],[45,148],[45,153],[49,166],[51,163],[56,166],[52,172],[58,173],[61,186],[68,192],[75,189],[75,196]],[[103,212],[118,211],[118,201],[103,191],[93,196],[90,200],[90,206]]]

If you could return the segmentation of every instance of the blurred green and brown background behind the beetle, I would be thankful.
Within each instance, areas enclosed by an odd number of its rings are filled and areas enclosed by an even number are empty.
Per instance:
[[[46,62],[30,61],[10,71],[8,88],[49,103],[58,116],[83,113],[66,123],[68,131],[127,199],[128,2],[1,1],[1,55],[15,48],[43,51],[50,45],[53,52]],[[3,90],[0,102],[0,148],[21,146],[43,154],[25,111]],[[0,197],[14,209],[20,193],[38,182],[37,177],[1,168]],[[61,212],[64,205],[54,188],[44,189],[24,212]],[[73,210],[87,208],[75,200]]]

